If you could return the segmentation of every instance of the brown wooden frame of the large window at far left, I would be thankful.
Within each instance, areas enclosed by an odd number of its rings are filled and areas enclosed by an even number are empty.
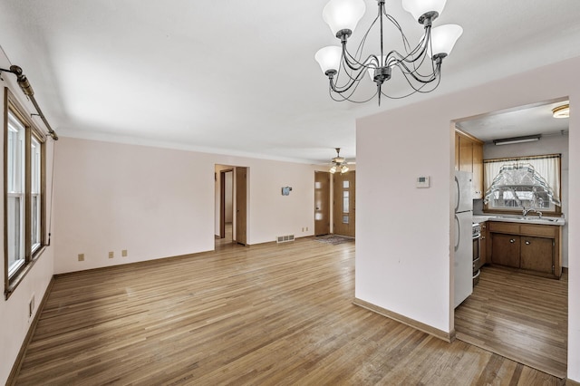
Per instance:
[[[5,88],[5,103],[4,103],[4,265],[5,265],[5,299],[8,299],[14,293],[14,289],[22,282],[24,276],[30,271],[34,262],[39,256],[43,254],[46,247],[46,137],[41,130],[39,130],[25,112],[24,108],[14,98],[10,90]],[[20,227],[24,227],[21,231],[21,236],[24,236],[24,260],[12,272],[8,271],[9,256],[9,235],[8,235],[8,201],[11,193],[8,191],[8,121],[10,115],[24,127],[24,155],[20,155],[19,160],[24,159],[24,210],[21,214],[21,222],[24,222]],[[37,167],[37,183],[38,191],[34,193],[37,199],[36,220],[39,223],[37,232],[39,232],[37,242],[32,242],[33,230],[32,224],[34,222],[32,208],[33,208],[33,139],[39,146]],[[21,193],[18,193],[21,194]],[[22,194],[21,194],[22,196]]]

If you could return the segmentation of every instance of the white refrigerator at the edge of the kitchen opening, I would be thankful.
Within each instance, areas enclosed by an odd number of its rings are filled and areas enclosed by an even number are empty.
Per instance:
[[[473,198],[467,171],[455,172],[455,260],[454,304],[457,307],[473,292]]]

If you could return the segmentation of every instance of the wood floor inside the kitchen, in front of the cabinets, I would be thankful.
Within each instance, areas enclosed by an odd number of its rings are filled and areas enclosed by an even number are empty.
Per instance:
[[[457,338],[565,378],[567,287],[567,274],[555,280],[484,266],[455,311]]]

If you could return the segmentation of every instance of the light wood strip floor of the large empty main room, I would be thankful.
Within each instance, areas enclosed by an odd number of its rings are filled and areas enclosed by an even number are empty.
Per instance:
[[[17,384],[563,384],[353,294],[354,243],[314,237],[63,275]]]

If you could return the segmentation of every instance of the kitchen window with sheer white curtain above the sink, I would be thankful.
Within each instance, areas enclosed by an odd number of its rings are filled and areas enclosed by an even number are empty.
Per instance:
[[[486,209],[560,213],[559,154],[484,160]]]

